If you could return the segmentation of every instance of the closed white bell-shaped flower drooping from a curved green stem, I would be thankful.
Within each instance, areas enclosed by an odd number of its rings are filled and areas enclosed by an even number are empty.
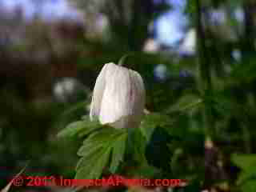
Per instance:
[[[115,128],[138,127],[144,106],[145,87],[138,72],[107,63],[94,86],[90,119]]]

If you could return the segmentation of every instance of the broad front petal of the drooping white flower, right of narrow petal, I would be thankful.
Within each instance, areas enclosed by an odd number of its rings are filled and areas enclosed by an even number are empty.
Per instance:
[[[145,88],[141,76],[122,66],[108,67],[100,122],[116,128],[138,126],[144,104]]]

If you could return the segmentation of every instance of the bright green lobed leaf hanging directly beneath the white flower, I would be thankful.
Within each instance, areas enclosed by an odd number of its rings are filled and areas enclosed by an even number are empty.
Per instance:
[[[109,159],[110,171],[114,173],[125,154],[126,138],[126,130],[116,130],[110,126],[104,126],[90,134],[78,150],[78,155],[82,158],[78,161],[75,178],[99,178]]]

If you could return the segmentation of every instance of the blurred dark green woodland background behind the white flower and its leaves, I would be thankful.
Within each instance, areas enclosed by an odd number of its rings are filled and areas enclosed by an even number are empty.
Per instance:
[[[102,66],[133,53],[150,165],[187,191],[256,190],[255,13],[254,0],[0,0],[0,189],[28,161],[27,175],[74,178],[82,140],[56,135],[88,114]]]

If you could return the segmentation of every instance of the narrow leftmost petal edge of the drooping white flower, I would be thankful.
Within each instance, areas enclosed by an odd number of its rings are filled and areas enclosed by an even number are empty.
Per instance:
[[[90,120],[93,120],[95,116],[98,117],[101,110],[102,96],[106,87],[107,67],[108,67],[108,64],[105,64],[105,66],[103,66],[95,82],[93,97],[90,104]]]

